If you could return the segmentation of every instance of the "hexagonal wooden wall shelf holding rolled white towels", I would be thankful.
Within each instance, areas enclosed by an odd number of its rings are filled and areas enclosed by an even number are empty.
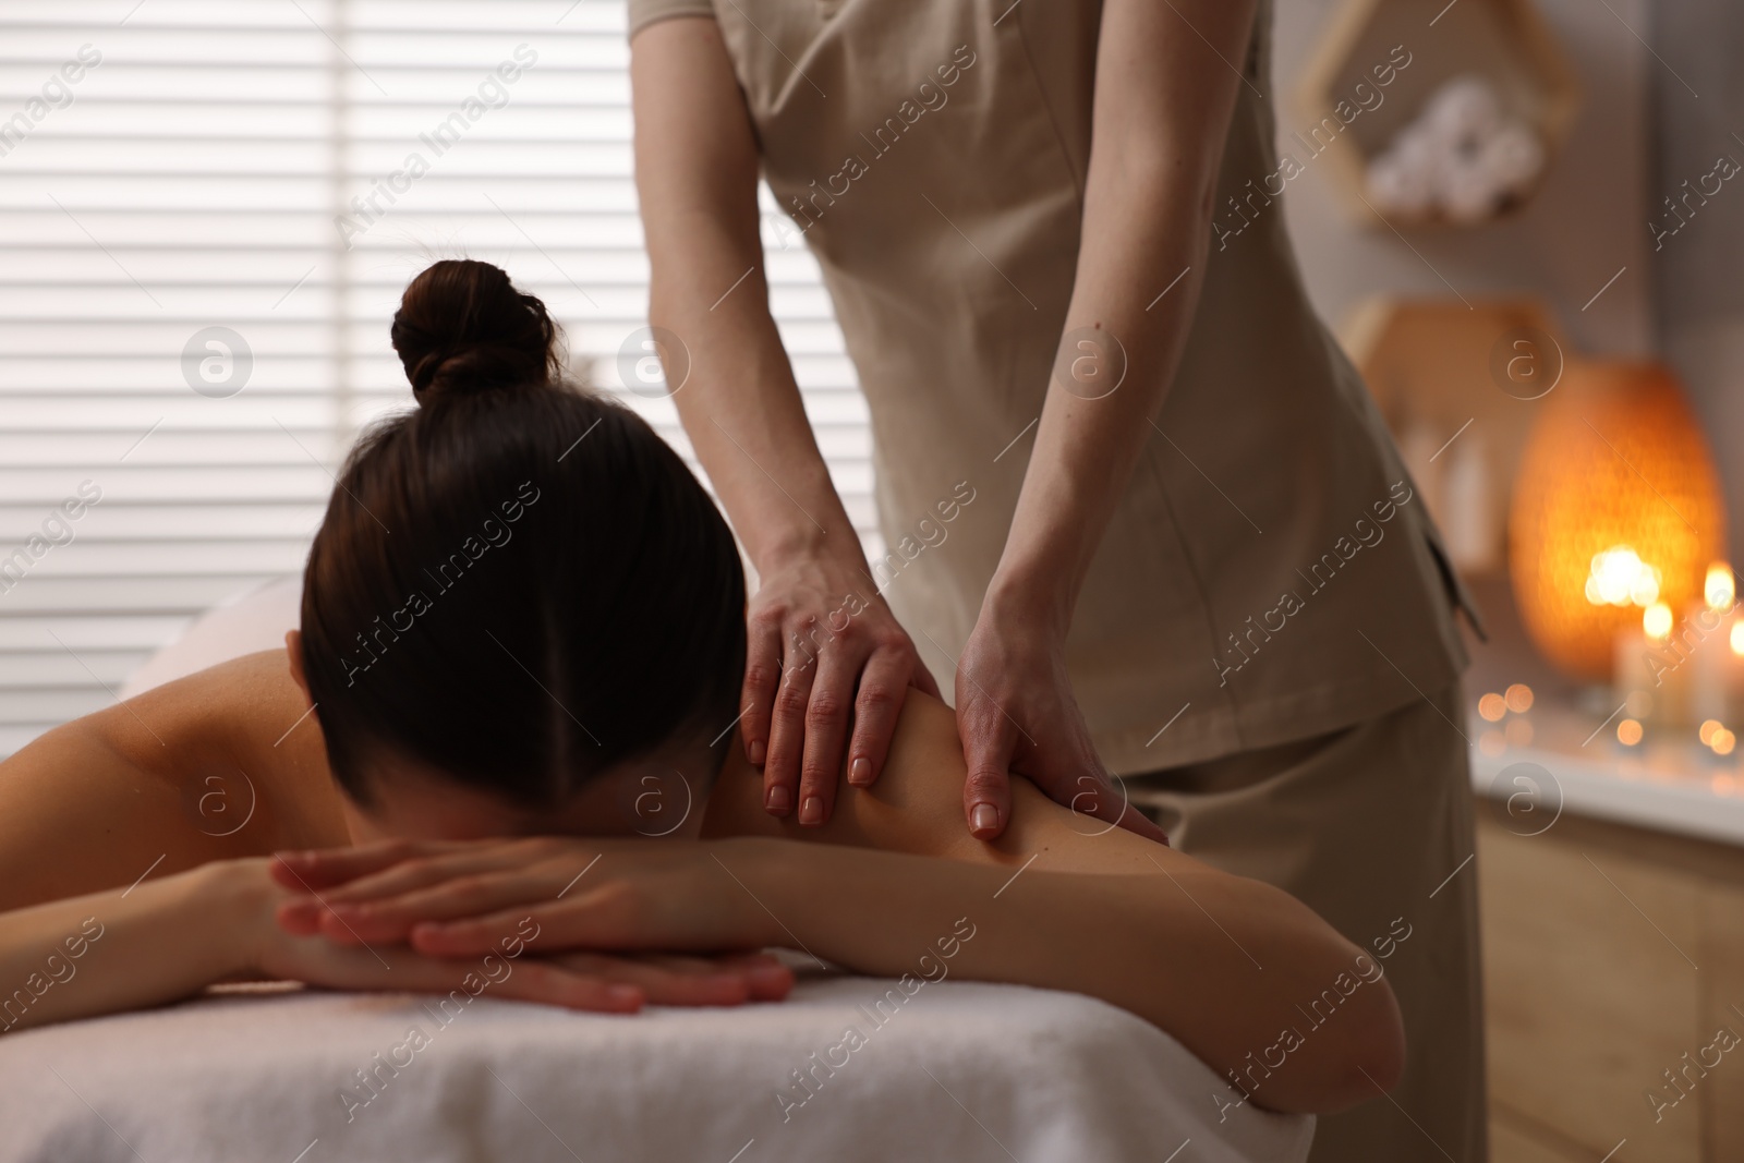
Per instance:
[[[1407,59],[1404,66],[1399,66],[1400,54]],[[1378,84],[1380,77],[1388,82]],[[1488,202],[1479,194],[1477,213],[1458,213],[1451,199],[1434,197],[1416,209],[1402,209],[1409,197],[1381,199],[1390,206],[1383,211],[1374,197],[1383,187],[1371,185],[1373,164],[1383,155],[1388,155],[1385,166],[1409,153],[1400,148],[1402,143],[1413,127],[1435,120],[1432,101],[1446,98],[1444,85],[1454,78],[1482,82],[1477,85],[1484,89],[1481,103],[1489,103],[1502,124],[1526,131],[1526,141],[1519,133],[1510,141],[1514,160],[1519,162],[1524,150],[1531,162],[1536,150],[1536,164],[1512,166],[1510,173],[1529,171],[1529,176],[1517,176],[1507,190],[1496,185]],[[1376,225],[1383,220],[1393,225],[1470,225],[1509,214],[1529,201],[1568,134],[1580,92],[1573,70],[1531,0],[1345,0],[1303,70],[1298,105],[1308,122],[1303,131],[1308,136],[1294,134],[1296,148],[1332,155],[1336,183],[1355,216]],[[1470,113],[1470,105],[1465,112]],[[1453,117],[1458,120],[1458,110]],[[1331,148],[1332,138],[1350,141]],[[1291,152],[1291,143],[1285,141],[1284,148]],[[1509,164],[1500,160],[1496,166]],[[1465,201],[1472,204],[1472,199]]]

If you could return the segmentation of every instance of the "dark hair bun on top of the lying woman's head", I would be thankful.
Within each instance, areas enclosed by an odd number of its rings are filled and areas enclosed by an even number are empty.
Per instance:
[[[539,296],[471,258],[433,263],[406,286],[392,340],[419,403],[562,373],[558,328]]]

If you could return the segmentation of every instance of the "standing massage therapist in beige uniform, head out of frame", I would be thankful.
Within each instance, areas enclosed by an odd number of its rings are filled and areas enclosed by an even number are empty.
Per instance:
[[[1465,1163],[1463,591],[1296,270],[1270,7],[630,0],[649,316],[760,581],[741,725],[767,809],[821,823],[839,772],[877,779],[903,690],[952,677],[975,835],[1018,772],[1390,942],[1406,1078],[1313,1158]],[[769,314],[759,174],[865,391],[881,561]]]

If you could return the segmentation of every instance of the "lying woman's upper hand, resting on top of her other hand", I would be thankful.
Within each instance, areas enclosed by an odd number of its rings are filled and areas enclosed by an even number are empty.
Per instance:
[[[534,924],[544,956],[736,950],[713,962],[741,973],[753,997],[783,996],[792,975],[745,952],[783,940],[734,874],[757,849],[755,840],[387,840],[283,853],[274,877],[303,893],[281,905],[281,928],[338,945],[410,942],[424,954],[476,956]]]

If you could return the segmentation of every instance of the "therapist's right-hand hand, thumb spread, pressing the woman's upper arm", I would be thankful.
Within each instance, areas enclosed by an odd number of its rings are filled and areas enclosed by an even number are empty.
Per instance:
[[[1167,833],[1127,804],[1095,753],[1066,671],[1064,633],[1045,619],[982,607],[957,659],[957,734],[968,760],[963,811],[982,840],[1012,820],[1012,774],[1048,799],[1162,844]]]

